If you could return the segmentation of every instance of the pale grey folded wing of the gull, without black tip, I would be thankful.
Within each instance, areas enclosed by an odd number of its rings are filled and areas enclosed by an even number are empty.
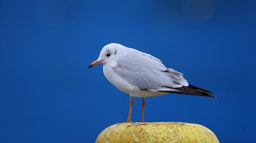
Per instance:
[[[166,68],[162,61],[142,52],[129,52],[116,59],[113,70],[141,90],[175,91],[174,88],[188,86],[179,73]]]

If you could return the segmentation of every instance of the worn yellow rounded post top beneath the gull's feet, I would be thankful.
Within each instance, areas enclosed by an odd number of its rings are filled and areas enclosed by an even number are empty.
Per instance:
[[[100,142],[219,142],[215,134],[199,124],[183,122],[132,122],[105,128]]]

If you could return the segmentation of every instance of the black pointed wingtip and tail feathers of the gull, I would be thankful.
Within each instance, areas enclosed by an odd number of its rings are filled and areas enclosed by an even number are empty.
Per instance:
[[[166,93],[176,93],[176,94],[184,94],[184,95],[196,95],[196,96],[208,96],[217,98],[217,96],[213,95],[211,91],[195,87],[194,85],[188,85],[187,87],[179,87],[175,88],[176,91],[163,91]]]

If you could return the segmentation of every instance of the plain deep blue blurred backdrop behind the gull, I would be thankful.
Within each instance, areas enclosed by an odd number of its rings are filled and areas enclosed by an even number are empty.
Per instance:
[[[218,98],[146,98],[146,122],[205,125],[256,142],[255,1],[1,1],[0,142],[94,142],[129,96],[87,69],[118,42],[154,55]],[[141,98],[132,121],[141,118]]]

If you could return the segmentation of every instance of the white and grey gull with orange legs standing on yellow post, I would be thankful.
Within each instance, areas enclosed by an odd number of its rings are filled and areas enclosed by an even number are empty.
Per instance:
[[[144,122],[146,97],[176,93],[215,97],[211,91],[188,84],[179,71],[167,68],[160,59],[117,43],[105,45],[99,58],[88,68],[103,64],[105,78],[130,95],[127,122],[131,122],[133,97],[142,97],[141,122]]]

